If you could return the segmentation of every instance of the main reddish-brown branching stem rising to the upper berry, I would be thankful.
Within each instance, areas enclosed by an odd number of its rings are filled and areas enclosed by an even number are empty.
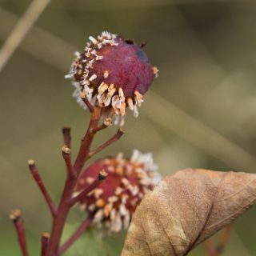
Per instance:
[[[93,142],[94,135],[98,130],[101,130],[98,129],[98,121],[101,118],[101,114],[101,108],[98,106],[94,106],[93,112],[90,116],[90,124],[86,130],[85,136],[82,138],[81,146],[78,151],[78,156],[74,162],[74,166],[71,165],[70,149],[67,146],[64,146],[62,148],[63,158],[66,162],[67,167],[67,177],[64,190],[62,192],[62,198],[58,205],[57,215],[55,216],[53,221],[52,230],[50,233],[50,242],[46,256],[58,256],[62,253],[62,250],[59,249],[62,231],[71,206],[74,205],[74,203],[77,202],[82,196],[88,194],[91,190],[98,186],[100,182],[102,182],[102,179],[106,177],[105,174],[99,174],[98,179],[93,184],[91,184],[91,186],[87,187],[84,191],[82,191],[82,193],[79,194],[77,198],[75,198],[75,200],[74,198],[72,198],[78,176],[81,173],[82,167],[85,165],[86,160],[89,158],[90,146]],[[112,142],[120,138],[120,132],[116,134],[116,137],[117,138],[112,138],[111,142],[107,142],[106,146],[110,145]],[[103,148],[105,148],[106,146],[104,146]],[[79,232],[80,231],[78,231],[78,233]],[[74,236],[74,238],[78,238],[78,236]],[[74,241],[74,238],[72,238],[72,243]]]

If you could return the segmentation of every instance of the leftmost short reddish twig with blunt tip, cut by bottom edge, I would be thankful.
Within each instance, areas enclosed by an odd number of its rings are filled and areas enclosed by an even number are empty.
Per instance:
[[[18,236],[18,242],[22,250],[22,256],[28,256],[28,250],[26,247],[26,234],[23,225],[21,210],[12,210],[9,218],[14,222],[16,233]]]

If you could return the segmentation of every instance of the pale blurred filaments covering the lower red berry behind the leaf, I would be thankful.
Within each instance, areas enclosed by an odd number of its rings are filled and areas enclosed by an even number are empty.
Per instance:
[[[138,150],[134,150],[130,160],[118,154],[116,158],[106,158],[103,161],[108,173],[106,183],[109,180],[113,184],[110,179],[118,179],[118,186],[114,187],[114,193],[108,198],[104,194],[113,188],[105,186],[92,190],[88,194],[90,204],[83,203],[81,206],[82,210],[94,214],[95,224],[100,227],[103,224],[110,232],[118,232],[122,228],[128,228],[136,206],[144,194],[159,182],[161,176],[156,171],[158,167],[154,165],[152,155],[142,154]],[[94,178],[87,177],[84,182],[89,185],[93,181]]]

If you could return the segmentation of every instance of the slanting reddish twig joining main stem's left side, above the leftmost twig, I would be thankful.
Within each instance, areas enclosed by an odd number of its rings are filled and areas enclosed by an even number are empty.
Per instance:
[[[38,184],[38,187],[41,190],[43,197],[46,199],[46,203],[49,206],[50,213],[52,214],[53,217],[56,216],[56,214],[57,214],[56,207],[54,206],[54,202],[50,198],[50,194],[48,194],[48,192],[46,190],[46,186],[42,182],[42,178],[40,177],[38,168],[35,165],[34,160],[29,160],[28,165],[30,168],[30,172],[34,178],[34,181]]]

